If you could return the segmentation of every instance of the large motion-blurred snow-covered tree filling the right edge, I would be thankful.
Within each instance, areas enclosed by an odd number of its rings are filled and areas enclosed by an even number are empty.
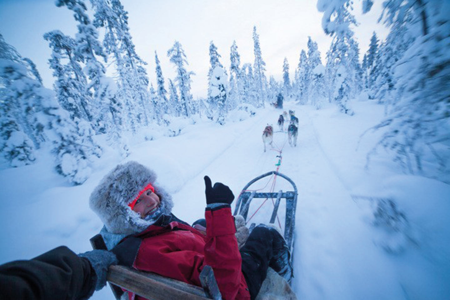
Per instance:
[[[382,18],[414,41],[393,66],[395,94],[378,143],[409,173],[450,182],[448,1],[387,0]],[[395,52],[395,51],[394,51]]]

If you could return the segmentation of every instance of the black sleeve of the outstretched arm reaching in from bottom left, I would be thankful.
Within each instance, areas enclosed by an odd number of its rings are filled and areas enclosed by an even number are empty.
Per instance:
[[[66,246],[0,265],[2,299],[88,299],[96,280],[89,261]]]

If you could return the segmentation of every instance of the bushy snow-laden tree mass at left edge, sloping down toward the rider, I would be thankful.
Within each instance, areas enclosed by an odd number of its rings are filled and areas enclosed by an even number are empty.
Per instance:
[[[53,149],[55,167],[61,175],[75,184],[83,183],[90,174],[91,160],[102,152],[93,140],[92,126],[77,117],[72,121],[54,93],[33,78],[35,75],[30,76],[35,74],[30,64],[18,63],[17,58],[20,55],[0,58],[4,84],[0,103],[5,104],[0,107],[0,148],[4,158],[10,166],[34,161],[31,140],[36,139],[38,146],[48,143]],[[29,129],[24,130],[27,126]]]

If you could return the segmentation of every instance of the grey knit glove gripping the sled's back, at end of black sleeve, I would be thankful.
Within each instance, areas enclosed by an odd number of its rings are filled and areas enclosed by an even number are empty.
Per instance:
[[[106,285],[108,267],[112,264],[117,264],[116,255],[106,250],[92,250],[80,253],[78,256],[85,257],[89,260],[92,269],[95,271],[95,275],[97,275],[95,291],[100,291]]]

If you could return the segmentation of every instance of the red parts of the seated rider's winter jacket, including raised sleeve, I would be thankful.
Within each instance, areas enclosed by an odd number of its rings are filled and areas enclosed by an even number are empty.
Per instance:
[[[205,218],[206,237],[179,222],[149,226],[136,235],[142,242],[133,267],[201,287],[200,272],[210,265],[223,299],[249,300],[231,208],[207,209]],[[136,295],[135,299],[144,298]]]

